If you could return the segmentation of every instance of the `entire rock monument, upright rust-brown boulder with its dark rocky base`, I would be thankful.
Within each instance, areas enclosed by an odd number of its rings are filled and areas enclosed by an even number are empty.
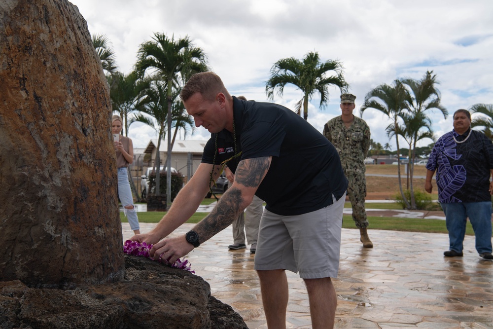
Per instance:
[[[110,116],[77,8],[0,0],[0,328],[246,329],[198,276],[125,272]]]

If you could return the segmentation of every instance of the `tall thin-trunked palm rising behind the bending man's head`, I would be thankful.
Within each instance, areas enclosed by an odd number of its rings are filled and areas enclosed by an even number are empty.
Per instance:
[[[188,37],[175,40],[155,33],[151,41],[141,44],[136,70],[142,75],[153,71],[165,83],[167,96],[168,153],[167,153],[167,207],[171,204],[171,124],[172,107],[178,91],[192,73],[207,71],[207,58],[201,48],[194,47]],[[159,195],[159,166],[156,173],[156,194]]]

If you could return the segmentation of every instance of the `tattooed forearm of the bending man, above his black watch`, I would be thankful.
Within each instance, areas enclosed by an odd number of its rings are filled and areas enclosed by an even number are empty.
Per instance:
[[[200,243],[209,240],[213,235],[228,227],[243,211],[242,204],[243,197],[240,189],[232,187],[224,193],[211,214],[194,227],[199,234]]]

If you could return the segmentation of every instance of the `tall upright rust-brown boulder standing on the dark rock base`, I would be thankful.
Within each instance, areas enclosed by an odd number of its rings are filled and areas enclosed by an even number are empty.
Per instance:
[[[109,92],[78,9],[0,1],[0,81],[0,281],[122,279]]]

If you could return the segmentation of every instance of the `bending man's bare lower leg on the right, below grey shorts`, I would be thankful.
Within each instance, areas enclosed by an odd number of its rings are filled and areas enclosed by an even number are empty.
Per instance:
[[[334,328],[337,295],[332,280],[330,278],[304,280],[310,299],[312,328]]]

